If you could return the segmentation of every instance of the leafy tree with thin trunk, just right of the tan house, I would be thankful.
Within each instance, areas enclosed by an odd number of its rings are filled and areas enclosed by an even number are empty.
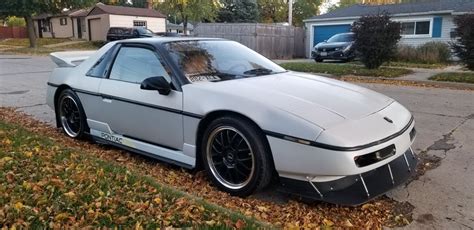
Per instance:
[[[219,7],[218,0],[166,0],[157,4],[160,11],[177,15],[183,22],[184,33],[188,21],[214,21]]]

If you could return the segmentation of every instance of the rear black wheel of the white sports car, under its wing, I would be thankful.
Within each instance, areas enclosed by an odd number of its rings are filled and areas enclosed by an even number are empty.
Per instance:
[[[86,115],[77,95],[70,89],[58,97],[56,116],[64,133],[71,138],[82,138],[87,130]]]

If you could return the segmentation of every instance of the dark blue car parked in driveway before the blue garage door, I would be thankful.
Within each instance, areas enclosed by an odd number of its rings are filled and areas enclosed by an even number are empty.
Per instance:
[[[354,33],[336,34],[327,41],[316,44],[311,57],[316,62],[322,62],[325,59],[351,61],[355,58],[353,44]]]

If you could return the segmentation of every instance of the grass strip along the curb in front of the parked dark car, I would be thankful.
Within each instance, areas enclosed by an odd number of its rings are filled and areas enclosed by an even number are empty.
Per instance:
[[[411,70],[403,68],[381,67],[379,69],[367,69],[360,65],[341,63],[315,63],[315,62],[288,62],[281,66],[288,70],[310,73],[324,73],[335,76],[356,75],[368,77],[400,77],[411,73]]]

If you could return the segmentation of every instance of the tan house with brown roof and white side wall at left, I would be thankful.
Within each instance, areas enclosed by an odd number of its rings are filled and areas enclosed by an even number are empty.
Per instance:
[[[106,40],[110,27],[143,26],[153,32],[166,31],[166,16],[151,8],[111,6],[97,3],[90,9],[64,11],[33,17],[40,38]]]

